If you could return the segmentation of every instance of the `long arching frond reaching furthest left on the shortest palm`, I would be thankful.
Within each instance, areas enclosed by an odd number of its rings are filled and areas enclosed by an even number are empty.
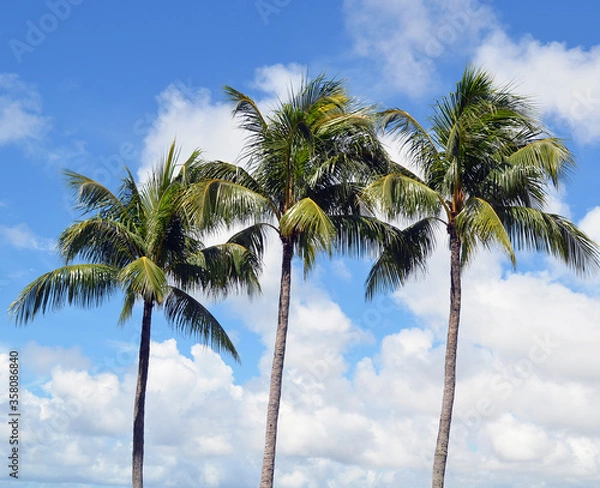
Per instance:
[[[118,268],[104,264],[76,264],[43,274],[11,303],[9,314],[25,324],[41,312],[55,311],[64,305],[83,308],[104,302],[119,288]]]

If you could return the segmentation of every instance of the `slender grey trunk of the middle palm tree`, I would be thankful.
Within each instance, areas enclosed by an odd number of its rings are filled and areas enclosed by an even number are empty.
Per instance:
[[[293,244],[282,238],[283,259],[281,263],[281,288],[279,292],[279,318],[277,322],[277,335],[275,337],[275,351],[271,367],[271,386],[269,388],[269,405],[267,407],[267,429],[265,434],[265,452],[263,456],[260,488],[273,487],[273,474],[275,472],[275,446],[277,443],[277,421],[281,401],[281,384],[283,379],[283,362],[285,358],[285,345],[287,341],[288,318],[290,311],[290,287],[292,278]]]

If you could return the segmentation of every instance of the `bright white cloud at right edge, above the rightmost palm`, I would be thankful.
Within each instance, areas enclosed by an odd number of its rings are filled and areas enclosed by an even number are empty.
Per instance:
[[[498,31],[477,49],[476,62],[499,82],[514,82],[577,141],[600,138],[600,46],[568,47],[530,36],[515,41]]]

